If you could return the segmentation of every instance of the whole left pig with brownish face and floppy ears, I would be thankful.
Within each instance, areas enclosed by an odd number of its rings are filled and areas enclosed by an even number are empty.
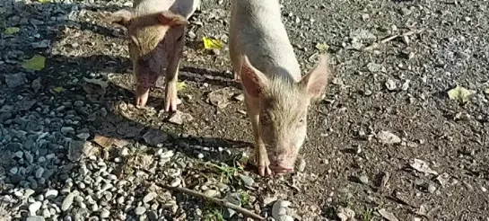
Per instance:
[[[131,11],[119,10],[111,22],[127,28],[135,75],[135,104],[145,106],[150,88],[166,72],[165,111],[177,110],[179,60],[188,18],[200,0],[135,0]]]

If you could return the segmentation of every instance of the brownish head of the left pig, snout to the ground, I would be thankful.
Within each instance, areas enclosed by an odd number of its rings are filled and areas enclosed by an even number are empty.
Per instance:
[[[158,76],[183,48],[187,20],[170,11],[139,16],[127,10],[113,13],[111,20],[127,28],[136,105],[144,106]]]

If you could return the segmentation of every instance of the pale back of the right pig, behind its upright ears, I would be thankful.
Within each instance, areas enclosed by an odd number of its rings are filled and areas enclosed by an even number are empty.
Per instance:
[[[281,67],[282,75],[301,78],[299,63],[285,31],[277,0],[231,0],[230,36],[241,54],[265,75]]]

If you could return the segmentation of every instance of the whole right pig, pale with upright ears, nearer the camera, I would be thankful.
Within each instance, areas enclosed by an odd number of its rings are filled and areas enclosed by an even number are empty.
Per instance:
[[[326,90],[327,54],[301,76],[278,0],[231,0],[229,49],[244,88],[258,173],[293,172],[310,103]]]

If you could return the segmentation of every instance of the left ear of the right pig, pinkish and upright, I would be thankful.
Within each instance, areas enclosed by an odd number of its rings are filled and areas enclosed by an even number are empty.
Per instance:
[[[240,75],[244,89],[252,97],[258,98],[268,85],[266,75],[252,66],[247,56],[241,57]]]

